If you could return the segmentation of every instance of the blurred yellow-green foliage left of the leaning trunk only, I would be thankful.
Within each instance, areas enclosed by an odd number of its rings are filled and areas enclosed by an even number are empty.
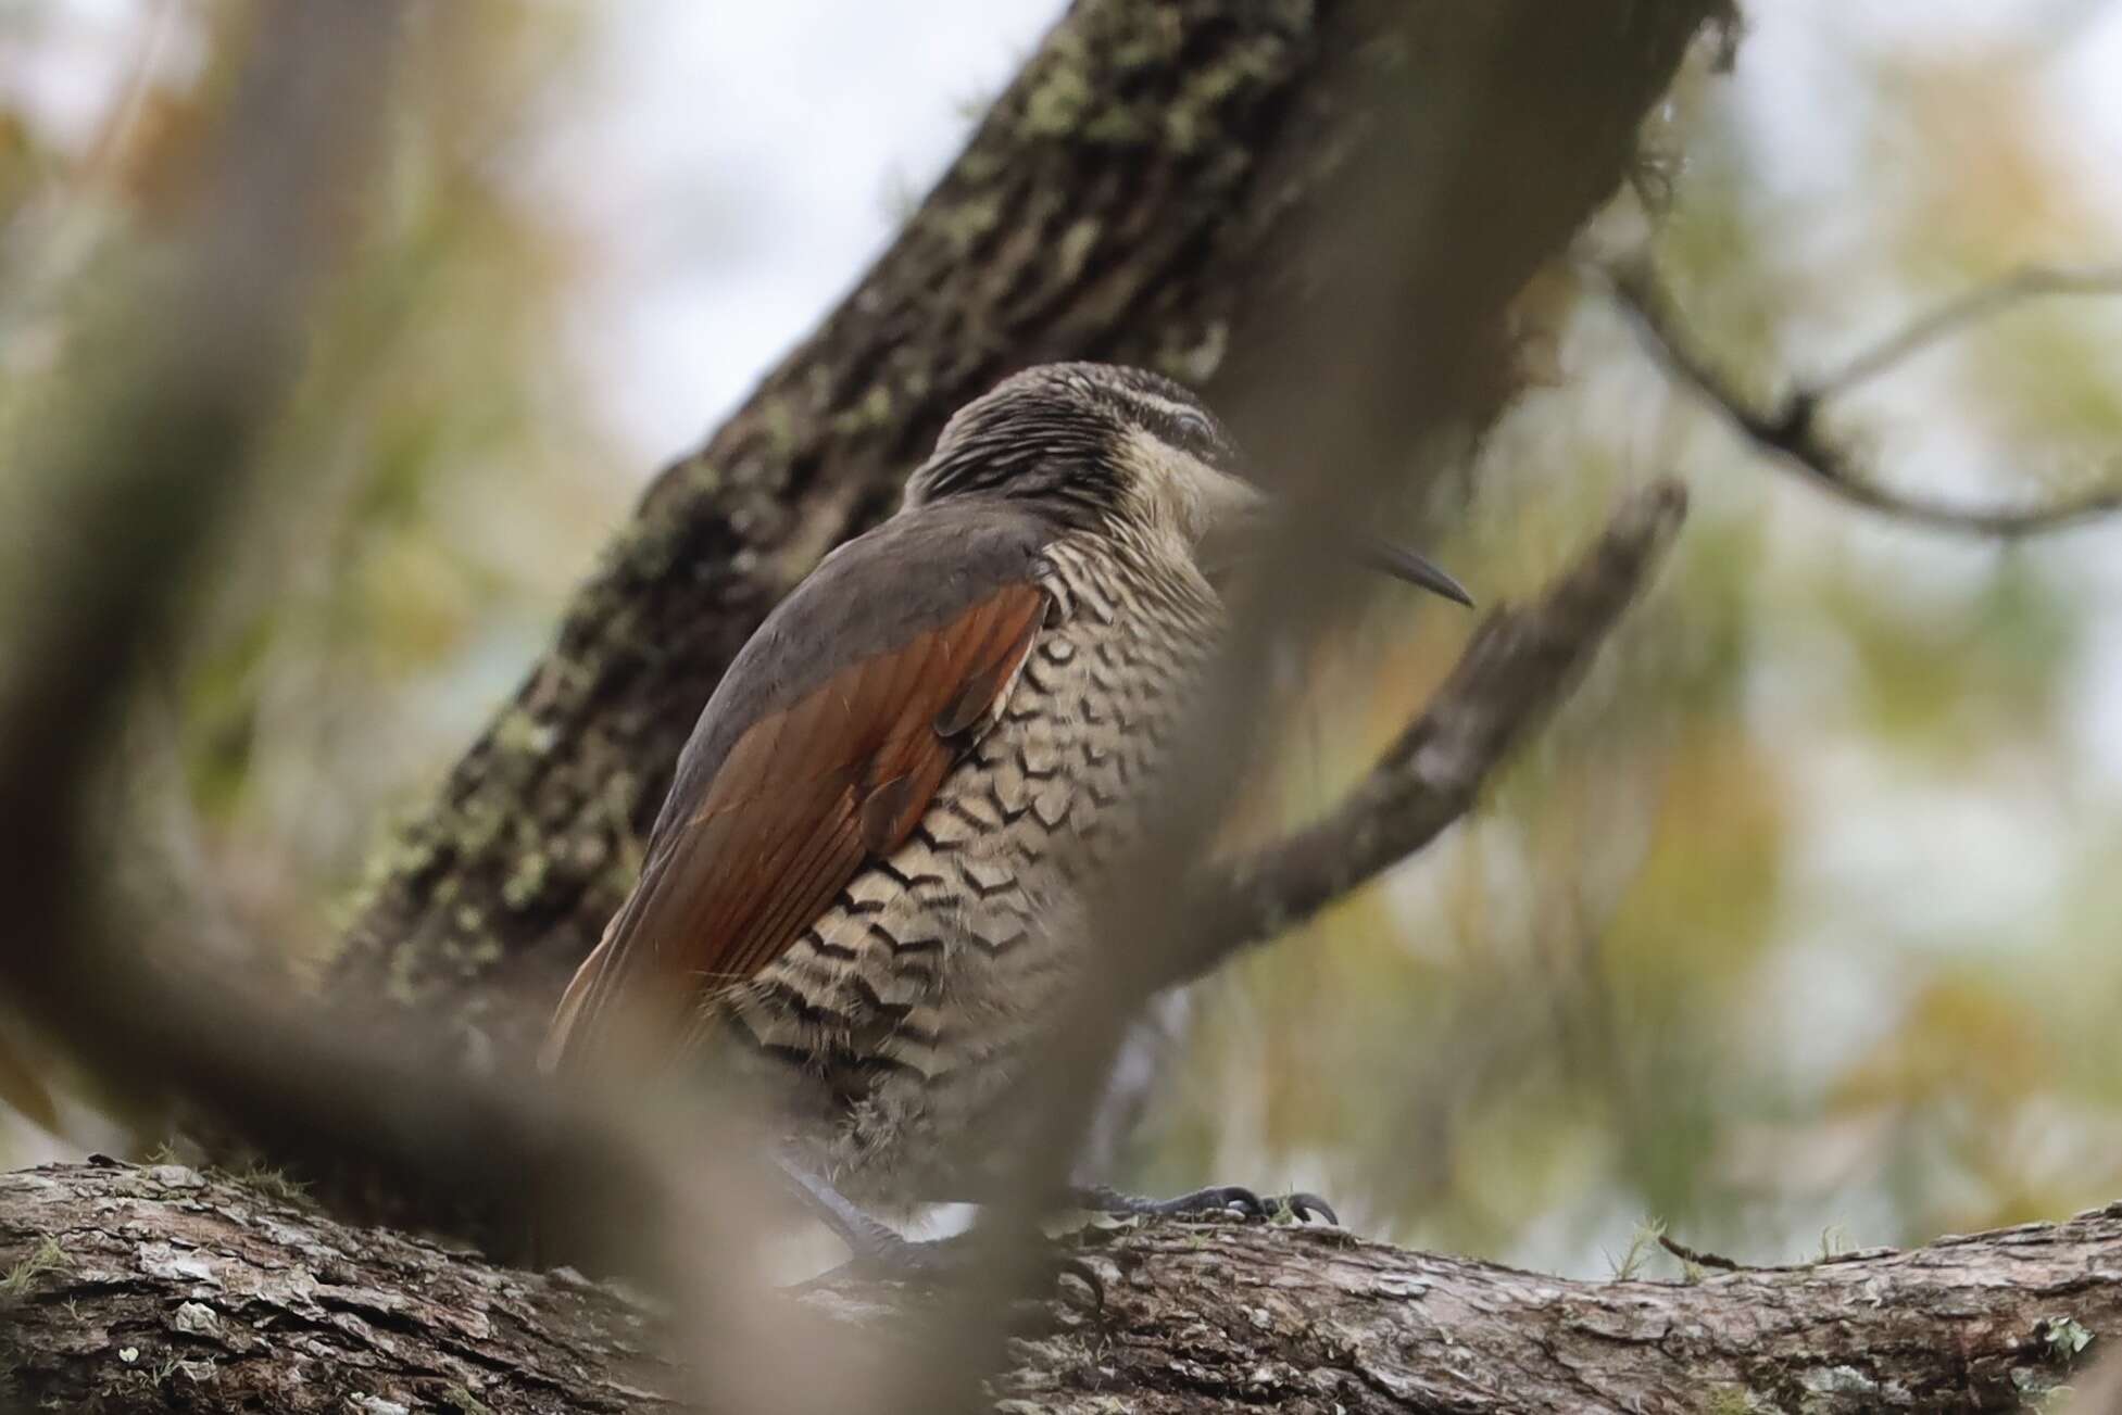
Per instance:
[[[0,117],[0,429],[49,405],[55,350],[191,199],[180,174],[248,15],[142,4],[112,23],[117,83],[87,142]],[[140,844],[159,878],[206,868],[231,938],[291,961],[329,942],[380,817],[437,785],[514,687],[639,475],[569,356],[575,233],[511,161],[579,21],[503,0],[418,11],[378,95],[384,199],[344,214],[354,259],[314,316],[263,490],[166,700],[142,704]],[[64,66],[87,19],[25,6],[4,23]],[[191,49],[195,70],[170,64]]]

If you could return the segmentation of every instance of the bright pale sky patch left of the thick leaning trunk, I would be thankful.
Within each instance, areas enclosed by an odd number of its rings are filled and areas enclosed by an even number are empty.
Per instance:
[[[641,452],[685,450],[853,284],[1059,0],[626,0],[554,134],[596,233],[592,388]],[[579,104],[579,108],[575,106]],[[584,182],[581,174],[594,172]]]

